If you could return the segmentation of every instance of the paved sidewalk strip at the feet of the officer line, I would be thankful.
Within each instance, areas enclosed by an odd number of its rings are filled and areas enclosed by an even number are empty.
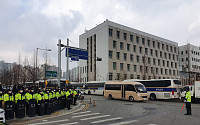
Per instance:
[[[30,121],[36,121],[36,120],[43,120],[43,119],[49,119],[49,118],[53,118],[53,117],[58,117],[58,116],[62,116],[62,115],[67,115],[67,114],[71,114],[74,112],[77,112],[79,110],[84,109],[85,104],[77,101],[77,105],[71,105],[71,109],[68,110],[67,108],[63,109],[63,110],[59,110],[55,113],[52,113],[51,115],[44,115],[44,116],[35,116],[35,117],[28,117],[26,116],[25,118],[14,118],[12,120],[6,120],[6,123],[9,125],[22,125],[24,122],[30,122]]]

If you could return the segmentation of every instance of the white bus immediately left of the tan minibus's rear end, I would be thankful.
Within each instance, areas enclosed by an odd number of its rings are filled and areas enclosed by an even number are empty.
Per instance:
[[[85,94],[96,94],[103,95],[104,94],[104,84],[105,81],[90,81],[86,82],[83,86]]]

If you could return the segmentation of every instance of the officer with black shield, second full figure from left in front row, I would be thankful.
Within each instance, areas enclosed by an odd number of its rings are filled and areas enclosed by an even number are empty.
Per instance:
[[[17,118],[25,117],[25,96],[23,95],[23,90],[19,90],[15,94],[15,116]]]

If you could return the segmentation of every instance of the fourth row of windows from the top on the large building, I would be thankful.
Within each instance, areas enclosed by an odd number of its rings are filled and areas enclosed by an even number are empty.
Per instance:
[[[120,66],[120,70],[123,71],[125,65],[123,63],[120,63],[119,66]],[[138,66],[138,65],[127,64],[126,68],[127,68],[128,72],[131,72],[132,66],[133,66],[133,72],[137,72],[137,67],[139,67],[139,70],[140,70],[141,73],[143,73],[143,72],[148,73],[149,72],[149,73],[158,74],[158,70],[159,70],[159,68],[154,68],[154,67],[150,68],[149,66]],[[176,67],[177,67],[177,64],[176,64]],[[171,65],[171,68],[173,68],[173,63]],[[113,70],[117,70],[117,62],[113,62]],[[168,75],[167,72],[168,72],[168,70],[165,69],[165,75]],[[175,70],[173,72],[175,72]],[[164,75],[163,68],[160,68],[160,73]],[[171,75],[171,69],[169,69],[169,75]]]

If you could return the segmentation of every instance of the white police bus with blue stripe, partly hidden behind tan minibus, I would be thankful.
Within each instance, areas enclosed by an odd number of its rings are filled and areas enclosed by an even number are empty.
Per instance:
[[[142,83],[150,100],[175,99],[180,97],[181,81],[177,79],[125,80]]]

